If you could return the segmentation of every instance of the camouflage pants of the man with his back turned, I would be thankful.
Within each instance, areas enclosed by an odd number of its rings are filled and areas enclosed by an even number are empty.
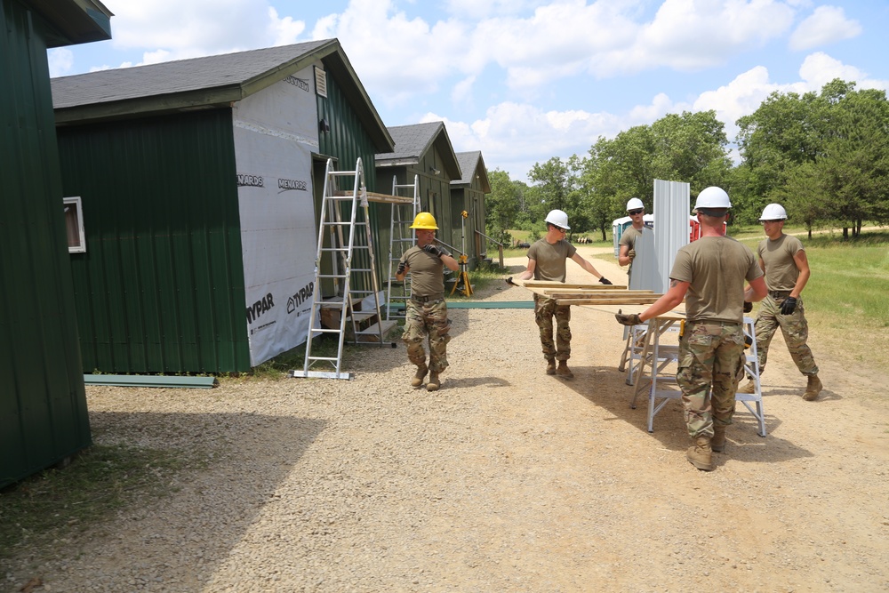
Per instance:
[[[685,426],[690,437],[712,437],[714,424],[732,423],[743,352],[744,332],[740,324],[685,325],[685,335],[679,341],[676,381],[682,389]]]

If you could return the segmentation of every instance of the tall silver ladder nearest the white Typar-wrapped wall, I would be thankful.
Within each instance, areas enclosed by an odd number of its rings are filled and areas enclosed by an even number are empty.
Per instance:
[[[340,189],[340,185],[348,185],[349,181],[352,182],[350,189]],[[328,270],[330,273],[327,273]],[[323,283],[332,284],[335,292],[332,299],[324,299]],[[372,308],[368,309],[371,304]],[[326,316],[321,315],[323,309],[339,313],[330,316],[335,327],[324,327]],[[363,322],[367,321],[372,323],[362,328]],[[367,188],[364,186],[364,169],[360,158],[357,159],[355,171],[334,171],[332,159],[327,160],[306,357],[303,369],[293,371],[292,376],[351,379],[351,373],[341,370],[347,322],[351,330],[349,343],[395,347],[394,342],[384,341],[386,333],[395,323],[384,323],[380,317],[380,291],[374,263]],[[312,338],[324,333],[337,336],[336,357],[313,356]],[[312,370],[316,365],[330,370]]]

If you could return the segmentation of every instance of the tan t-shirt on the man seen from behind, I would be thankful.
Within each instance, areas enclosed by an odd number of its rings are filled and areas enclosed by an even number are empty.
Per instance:
[[[669,277],[691,283],[685,295],[689,321],[744,320],[744,281],[763,275],[747,245],[728,236],[702,236],[676,254]]]

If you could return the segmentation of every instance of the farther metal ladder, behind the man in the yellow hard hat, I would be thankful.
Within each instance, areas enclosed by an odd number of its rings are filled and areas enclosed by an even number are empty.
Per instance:
[[[399,191],[409,190],[411,203],[392,204],[392,222],[389,225],[389,258],[388,282],[386,284],[386,319],[404,319],[407,311],[407,300],[411,298],[411,276],[403,281],[396,279],[398,262],[401,256],[413,245],[411,225],[420,212],[420,176],[413,176],[413,183],[399,184],[395,175],[392,176],[392,195],[399,196]],[[407,196],[405,196],[407,197]],[[400,306],[398,306],[400,305]]]

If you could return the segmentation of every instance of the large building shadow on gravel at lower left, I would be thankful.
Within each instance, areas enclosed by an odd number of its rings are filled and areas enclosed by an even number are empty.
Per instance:
[[[60,564],[89,558],[98,572],[88,580],[114,590],[134,572],[162,574],[177,590],[204,590],[264,507],[281,502],[282,483],[327,425],[258,413],[92,412],[90,418],[96,443],[173,450],[189,460],[188,469],[163,477],[169,495],[133,493],[115,517],[58,550]],[[302,495],[300,484],[290,485],[287,495]],[[137,549],[138,558],[128,556]]]

